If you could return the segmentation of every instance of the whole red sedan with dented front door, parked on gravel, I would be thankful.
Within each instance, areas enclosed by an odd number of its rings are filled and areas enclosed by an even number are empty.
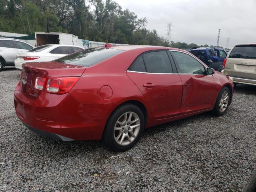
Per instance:
[[[23,64],[14,104],[18,118],[38,134],[102,139],[121,152],[144,128],[206,111],[222,116],[233,90],[232,78],[186,51],[107,44]]]

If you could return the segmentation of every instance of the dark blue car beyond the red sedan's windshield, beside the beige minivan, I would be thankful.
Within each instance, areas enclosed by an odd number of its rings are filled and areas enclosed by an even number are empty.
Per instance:
[[[222,63],[227,56],[224,49],[216,47],[197,48],[189,50],[189,52],[199,58],[207,66],[217,71],[222,70]]]

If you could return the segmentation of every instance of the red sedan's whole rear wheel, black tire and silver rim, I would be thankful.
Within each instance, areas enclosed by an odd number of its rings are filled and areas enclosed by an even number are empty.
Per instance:
[[[140,108],[125,104],[116,108],[109,117],[102,140],[110,150],[124,152],[138,142],[144,131],[144,124]]]

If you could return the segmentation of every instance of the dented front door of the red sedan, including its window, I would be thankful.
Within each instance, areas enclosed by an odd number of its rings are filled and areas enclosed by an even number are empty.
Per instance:
[[[206,75],[206,68],[196,57],[174,50],[171,53],[182,80],[181,113],[213,108],[218,94],[214,76]]]

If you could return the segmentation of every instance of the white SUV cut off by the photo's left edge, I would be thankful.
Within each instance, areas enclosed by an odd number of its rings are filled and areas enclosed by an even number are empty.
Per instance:
[[[34,48],[18,39],[0,38],[0,71],[4,66],[14,66],[16,54]]]

